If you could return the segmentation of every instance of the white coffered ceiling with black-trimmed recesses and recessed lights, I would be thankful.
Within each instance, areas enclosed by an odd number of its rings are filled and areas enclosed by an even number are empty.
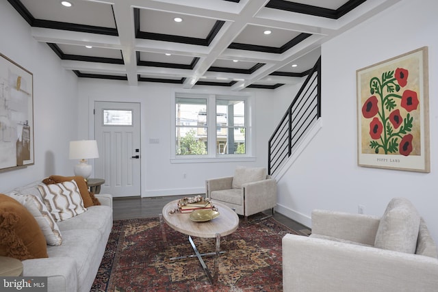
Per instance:
[[[400,0],[8,1],[78,77],[242,90],[297,83],[323,42]]]

